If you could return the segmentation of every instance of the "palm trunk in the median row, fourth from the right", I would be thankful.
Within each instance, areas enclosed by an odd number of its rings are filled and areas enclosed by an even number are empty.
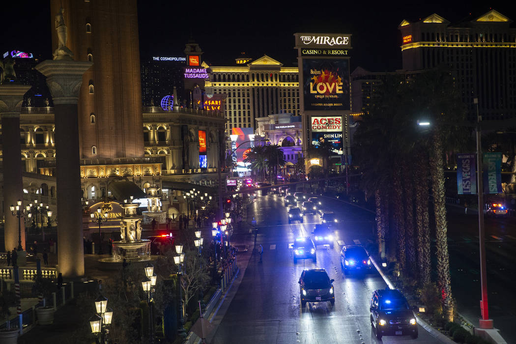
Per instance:
[[[393,174],[393,216],[396,228],[396,258],[401,271],[405,270],[405,220],[403,214],[403,188],[401,186],[401,164],[396,163]]]

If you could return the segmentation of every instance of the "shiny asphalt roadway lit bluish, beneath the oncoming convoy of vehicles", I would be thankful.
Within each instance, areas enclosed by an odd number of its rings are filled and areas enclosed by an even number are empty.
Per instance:
[[[339,260],[342,245],[367,242],[374,230],[374,215],[341,202],[322,202],[344,219],[335,232],[334,249],[319,246],[316,263],[306,259],[296,265],[290,245],[296,237],[311,234],[319,223],[318,215],[288,224],[287,208],[279,195],[260,196],[249,206],[248,216],[255,218],[259,228],[257,244],[264,248],[263,263],[259,263],[259,254],[251,258],[212,343],[439,342],[421,326],[415,340],[410,336],[376,339],[369,321],[369,298],[386,284],[377,272],[344,277]],[[301,308],[299,276],[304,268],[315,267],[325,268],[335,280],[334,307],[328,302]]]

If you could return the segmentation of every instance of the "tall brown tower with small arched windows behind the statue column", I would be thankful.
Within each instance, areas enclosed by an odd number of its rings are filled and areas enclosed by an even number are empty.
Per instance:
[[[51,0],[53,46],[60,7],[74,60],[93,62],[79,94],[80,157],[143,157],[136,0]]]

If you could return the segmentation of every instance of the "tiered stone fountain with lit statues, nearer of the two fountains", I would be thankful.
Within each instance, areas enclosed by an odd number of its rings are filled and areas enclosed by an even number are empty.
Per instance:
[[[99,259],[102,266],[107,269],[118,269],[123,259],[132,264],[151,260],[151,240],[141,239],[142,217],[136,212],[139,204],[124,201],[120,206],[123,208],[120,241],[113,242],[111,257]]]

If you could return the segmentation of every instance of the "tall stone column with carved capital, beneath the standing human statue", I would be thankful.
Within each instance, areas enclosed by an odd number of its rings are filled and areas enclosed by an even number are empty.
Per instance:
[[[57,259],[59,271],[68,278],[84,275],[77,101],[83,74],[91,65],[91,62],[46,60],[36,66],[46,76],[54,100]]]

